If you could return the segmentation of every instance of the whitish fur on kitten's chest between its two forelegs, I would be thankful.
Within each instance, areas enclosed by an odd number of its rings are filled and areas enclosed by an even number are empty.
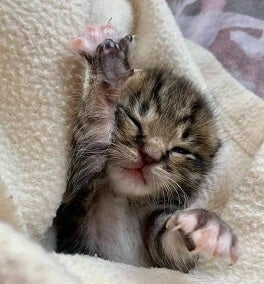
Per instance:
[[[146,265],[139,218],[125,198],[102,190],[87,217],[87,241],[98,254],[117,262]]]

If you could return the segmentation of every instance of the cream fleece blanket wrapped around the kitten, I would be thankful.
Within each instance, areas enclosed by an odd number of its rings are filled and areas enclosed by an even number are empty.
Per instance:
[[[72,106],[83,83],[69,40],[110,17],[137,35],[136,68],[167,63],[212,94],[219,108],[233,151],[212,207],[239,236],[242,256],[233,267],[202,263],[183,275],[56,255],[41,245],[65,189]],[[184,41],[164,1],[2,1],[0,39],[1,284],[264,283],[264,103],[210,53]]]

